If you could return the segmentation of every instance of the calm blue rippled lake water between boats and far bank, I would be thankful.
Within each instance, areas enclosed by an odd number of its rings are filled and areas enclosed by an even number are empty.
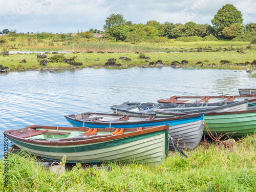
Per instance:
[[[10,72],[0,74],[0,82],[0,156],[6,130],[31,124],[71,127],[64,115],[112,113],[111,105],[125,101],[157,102],[174,95],[239,95],[239,88],[256,88],[256,78],[245,71],[170,67]]]

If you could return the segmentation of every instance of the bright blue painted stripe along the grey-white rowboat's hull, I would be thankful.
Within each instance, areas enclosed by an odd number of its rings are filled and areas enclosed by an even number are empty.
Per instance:
[[[114,127],[114,128],[130,128],[130,127],[146,127],[146,126],[159,126],[159,125],[165,125],[169,124],[169,126],[173,125],[178,125],[178,124],[183,124],[183,123],[190,123],[194,121],[199,121],[199,120],[204,120],[204,114],[202,114],[200,117],[193,117],[193,118],[185,118],[185,119],[177,119],[177,120],[168,120],[168,121],[157,121],[157,122],[149,122],[149,123],[136,123],[134,122],[133,124],[115,124],[111,123],[110,124],[94,124],[94,123],[87,123],[83,121],[74,121],[71,119],[67,119],[69,123],[71,123],[74,126],[80,127],[80,126],[86,126],[89,128],[105,128],[105,127]]]

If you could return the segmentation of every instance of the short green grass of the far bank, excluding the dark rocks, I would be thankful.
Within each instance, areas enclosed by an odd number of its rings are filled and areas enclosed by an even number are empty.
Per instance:
[[[82,62],[80,67],[103,67],[105,62],[109,58],[116,58],[116,63],[120,63],[122,67],[134,67],[149,65],[150,62],[156,62],[161,59],[164,66],[170,66],[173,61],[181,62],[182,60],[188,61],[188,67],[196,65],[200,67],[204,65],[204,69],[231,69],[231,70],[243,70],[245,68],[254,69],[254,66],[241,66],[237,63],[245,63],[246,61],[252,62],[256,59],[256,47],[244,50],[245,54],[237,53],[237,51],[220,51],[220,52],[163,52],[163,53],[145,53],[146,57],[150,59],[141,59],[139,54],[136,53],[80,53],[80,54],[65,54],[66,58],[77,56],[76,62]],[[47,54],[48,58],[53,54]],[[127,57],[131,60],[119,59],[120,57]],[[26,59],[27,63],[23,63],[22,60]],[[229,63],[222,64],[221,60],[228,60]],[[0,55],[0,63],[3,66],[9,67],[10,70],[24,70],[24,69],[41,69],[37,54],[12,54],[9,56]],[[212,63],[216,64],[216,67],[212,67]],[[73,67],[63,62],[48,62],[46,68],[69,68]],[[24,68],[24,69],[23,69]]]

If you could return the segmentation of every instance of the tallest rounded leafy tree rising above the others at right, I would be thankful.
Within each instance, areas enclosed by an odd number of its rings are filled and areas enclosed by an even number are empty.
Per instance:
[[[242,24],[243,14],[233,5],[226,4],[219,9],[217,14],[211,20],[211,23],[214,25],[216,34],[219,35],[225,27],[230,27],[233,24]]]

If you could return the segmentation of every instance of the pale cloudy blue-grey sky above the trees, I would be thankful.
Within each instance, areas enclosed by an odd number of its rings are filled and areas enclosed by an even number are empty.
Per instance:
[[[134,24],[157,20],[211,24],[225,4],[243,13],[244,24],[256,23],[255,0],[0,0],[0,31],[69,33],[101,29],[111,13],[121,13]]]

